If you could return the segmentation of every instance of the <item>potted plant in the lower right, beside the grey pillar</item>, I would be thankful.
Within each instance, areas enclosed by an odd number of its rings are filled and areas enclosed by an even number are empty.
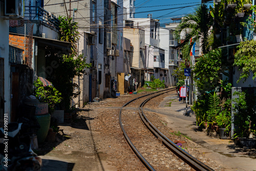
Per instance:
[[[252,92],[234,92],[234,104],[232,110],[234,113],[235,134],[234,138],[239,138],[242,146],[253,148],[256,145],[256,138],[252,138],[256,129],[256,107],[255,96]],[[253,96],[253,97],[252,97]]]

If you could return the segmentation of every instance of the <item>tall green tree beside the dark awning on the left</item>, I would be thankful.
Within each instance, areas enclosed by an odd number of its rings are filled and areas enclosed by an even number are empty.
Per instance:
[[[61,109],[66,111],[70,109],[70,104],[73,98],[77,97],[80,92],[75,92],[78,87],[73,82],[76,76],[82,76],[85,68],[91,67],[91,64],[86,63],[86,56],[78,55],[77,41],[79,39],[79,32],[77,31],[76,22],[72,18],[59,16],[60,20],[60,40],[71,42],[71,54],[58,54],[49,52],[47,55],[47,62],[50,66],[52,61],[58,63],[58,67],[53,68],[52,74],[47,78],[53,83],[56,89],[61,93],[62,101],[60,103]]]

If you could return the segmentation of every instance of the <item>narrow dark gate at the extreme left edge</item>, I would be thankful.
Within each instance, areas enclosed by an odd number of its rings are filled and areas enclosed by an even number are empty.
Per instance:
[[[4,125],[5,90],[4,90],[4,58],[0,58],[0,127]]]

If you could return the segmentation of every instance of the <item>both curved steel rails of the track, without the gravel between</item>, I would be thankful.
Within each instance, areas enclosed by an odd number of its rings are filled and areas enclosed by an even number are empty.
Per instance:
[[[190,154],[188,154],[187,152],[185,152],[181,147],[177,146],[174,142],[170,141],[166,136],[164,136],[145,116],[145,114],[143,113],[143,105],[153,99],[156,96],[162,95],[166,92],[169,91],[173,91],[175,90],[175,88],[172,89],[167,89],[167,90],[162,90],[159,92],[155,92],[155,93],[151,93],[151,94],[147,94],[144,96],[140,96],[137,97],[127,103],[125,103],[122,108],[120,109],[119,112],[119,124],[121,127],[121,130],[123,132],[123,135],[126,139],[126,141],[129,143],[129,145],[131,146],[131,148],[133,149],[134,153],[137,155],[137,157],[140,159],[140,161],[145,165],[145,167],[147,167],[149,170],[156,170],[152,164],[150,164],[150,162],[148,162],[145,157],[139,152],[139,150],[137,149],[137,147],[134,145],[134,143],[131,140],[131,137],[134,137],[133,135],[130,134],[129,135],[126,133],[125,129],[127,130],[127,127],[124,128],[124,123],[122,122],[122,112],[125,111],[123,110],[123,108],[125,108],[127,105],[131,104],[133,101],[138,100],[140,98],[144,98],[146,96],[151,96],[145,100],[143,100],[141,102],[141,104],[138,107],[138,113],[139,116],[142,120],[142,122],[144,123],[144,125],[146,125],[147,129],[150,130],[152,132],[152,134],[157,138],[157,141],[161,141],[161,143],[169,149],[169,151],[171,151],[173,154],[175,154],[177,157],[179,157],[180,159],[182,159],[185,163],[187,163],[190,167],[194,168],[195,170],[213,170],[210,167],[208,167],[207,165],[205,165],[204,163],[202,163],[201,161],[199,161],[198,159],[196,159],[195,157],[191,156]],[[125,123],[126,125],[126,123]],[[134,140],[136,141],[136,140]]]

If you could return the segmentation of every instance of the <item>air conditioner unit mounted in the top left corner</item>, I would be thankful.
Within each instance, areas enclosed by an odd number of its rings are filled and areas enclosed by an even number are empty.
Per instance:
[[[23,19],[24,18],[24,0],[5,0],[6,19]]]

